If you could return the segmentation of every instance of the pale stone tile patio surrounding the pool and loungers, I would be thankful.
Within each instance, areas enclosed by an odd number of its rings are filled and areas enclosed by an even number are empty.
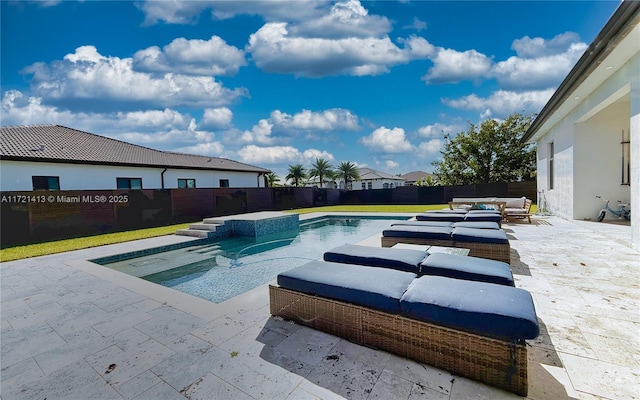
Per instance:
[[[542,328],[529,342],[528,398],[638,398],[630,228],[536,217],[503,229]],[[2,399],[518,398],[270,317],[266,285],[213,304],[86,261],[188,240],[3,263]]]

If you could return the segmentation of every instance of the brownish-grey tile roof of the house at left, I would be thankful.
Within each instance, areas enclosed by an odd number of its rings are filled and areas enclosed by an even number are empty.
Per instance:
[[[150,149],[60,125],[0,127],[3,160],[270,172],[226,158]]]

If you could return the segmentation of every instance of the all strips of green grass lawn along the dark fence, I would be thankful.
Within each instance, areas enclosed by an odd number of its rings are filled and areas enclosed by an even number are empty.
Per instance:
[[[440,210],[445,204],[432,205],[342,205],[313,208],[300,208],[287,212],[306,214],[311,212],[382,212],[382,213],[420,213],[427,210]],[[534,204],[531,213],[537,210]],[[47,254],[63,253],[65,251],[87,249],[89,247],[104,246],[107,244],[129,242],[132,240],[146,239],[156,236],[173,235],[178,229],[187,228],[189,224],[162,226],[159,228],[139,229],[128,232],[106,233],[103,235],[87,236],[77,239],[57,240],[54,242],[35,243],[24,246],[0,249],[0,262],[19,260],[29,257],[44,256]]]

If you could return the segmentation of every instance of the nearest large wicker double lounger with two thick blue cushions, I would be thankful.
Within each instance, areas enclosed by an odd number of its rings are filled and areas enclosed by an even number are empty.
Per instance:
[[[271,314],[527,395],[529,292],[510,286],[312,261],[269,286]]]

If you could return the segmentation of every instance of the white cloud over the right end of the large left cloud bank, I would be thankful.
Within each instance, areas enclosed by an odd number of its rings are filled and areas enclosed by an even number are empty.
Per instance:
[[[229,46],[219,36],[209,40],[178,38],[162,50],[152,46],[133,55],[133,69],[140,72],[235,75],[244,65],[244,51]]]

